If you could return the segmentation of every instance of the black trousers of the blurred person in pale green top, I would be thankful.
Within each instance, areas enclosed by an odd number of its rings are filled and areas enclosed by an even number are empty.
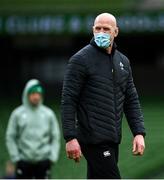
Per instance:
[[[48,179],[51,162],[49,160],[31,163],[19,161],[16,165],[16,179]]]

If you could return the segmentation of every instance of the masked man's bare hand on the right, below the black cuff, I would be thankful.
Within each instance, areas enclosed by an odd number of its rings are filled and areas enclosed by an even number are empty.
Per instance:
[[[143,155],[145,149],[145,141],[142,135],[136,135],[133,140],[133,155]]]

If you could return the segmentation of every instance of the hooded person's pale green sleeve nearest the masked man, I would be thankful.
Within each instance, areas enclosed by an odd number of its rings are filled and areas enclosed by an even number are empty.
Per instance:
[[[56,115],[52,112],[51,123],[50,123],[50,133],[51,133],[51,153],[50,160],[56,162],[59,158],[60,151],[60,129]]]

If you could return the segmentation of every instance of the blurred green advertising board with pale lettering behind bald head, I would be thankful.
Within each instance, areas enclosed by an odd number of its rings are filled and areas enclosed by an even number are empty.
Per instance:
[[[89,34],[94,14],[0,16],[0,34]],[[164,32],[164,13],[122,14],[116,17],[121,33]]]

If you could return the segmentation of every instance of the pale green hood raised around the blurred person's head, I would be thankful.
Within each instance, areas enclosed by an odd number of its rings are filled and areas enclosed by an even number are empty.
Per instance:
[[[29,89],[31,89],[33,86],[36,86],[36,85],[40,85],[40,82],[37,79],[31,79],[26,83],[25,88],[23,90],[23,94],[22,94],[22,102],[25,106],[32,107],[28,100],[28,91]],[[41,105],[42,103],[43,103],[43,96],[39,105]]]

